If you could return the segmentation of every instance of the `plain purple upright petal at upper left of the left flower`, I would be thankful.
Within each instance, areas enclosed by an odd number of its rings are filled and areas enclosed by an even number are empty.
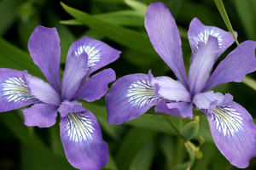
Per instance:
[[[37,26],[28,41],[29,53],[50,85],[60,92],[60,38],[55,28]]]

